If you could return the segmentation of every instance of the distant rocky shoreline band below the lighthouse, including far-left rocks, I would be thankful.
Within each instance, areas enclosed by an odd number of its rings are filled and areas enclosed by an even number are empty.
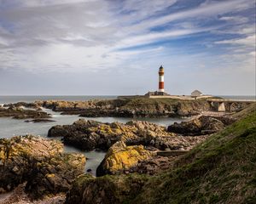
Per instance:
[[[250,102],[232,103],[226,110],[241,111]],[[62,115],[84,117],[189,117],[198,116],[214,107],[207,99],[149,99],[143,97],[125,99],[94,99],[88,101],[44,100],[33,103],[18,102],[0,107],[1,116],[15,119],[47,119],[50,116],[42,108],[61,112]],[[37,120],[36,122],[40,122]],[[42,120],[42,122],[47,122]]]

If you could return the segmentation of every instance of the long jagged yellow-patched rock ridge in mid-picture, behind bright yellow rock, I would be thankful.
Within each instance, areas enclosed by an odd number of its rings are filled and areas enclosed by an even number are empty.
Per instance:
[[[166,148],[168,144],[158,142],[163,137],[172,137],[166,127],[150,122],[120,122],[102,123],[80,119],[72,125],[54,126],[49,129],[49,137],[63,137],[65,144],[73,144],[83,150],[108,150],[119,140],[125,144],[153,145],[156,148]]]

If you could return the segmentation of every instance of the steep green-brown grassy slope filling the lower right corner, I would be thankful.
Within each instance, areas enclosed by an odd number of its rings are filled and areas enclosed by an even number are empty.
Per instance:
[[[251,114],[149,179],[130,203],[255,203],[255,173],[256,115]]]

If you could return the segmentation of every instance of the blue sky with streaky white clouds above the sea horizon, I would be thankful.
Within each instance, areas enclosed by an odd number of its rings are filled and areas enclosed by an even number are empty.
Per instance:
[[[255,95],[255,0],[0,0],[0,95]]]

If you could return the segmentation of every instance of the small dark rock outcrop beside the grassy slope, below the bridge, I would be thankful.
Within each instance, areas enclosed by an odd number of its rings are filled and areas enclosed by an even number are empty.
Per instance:
[[[201,135],[208,133],[216,133],[223,129],[226,125],[230,125],[234,120],[230,117],[212,117],[200,116],[188,122],[174,122],[169,126],[168,132],[180,133],[183,135]]]

